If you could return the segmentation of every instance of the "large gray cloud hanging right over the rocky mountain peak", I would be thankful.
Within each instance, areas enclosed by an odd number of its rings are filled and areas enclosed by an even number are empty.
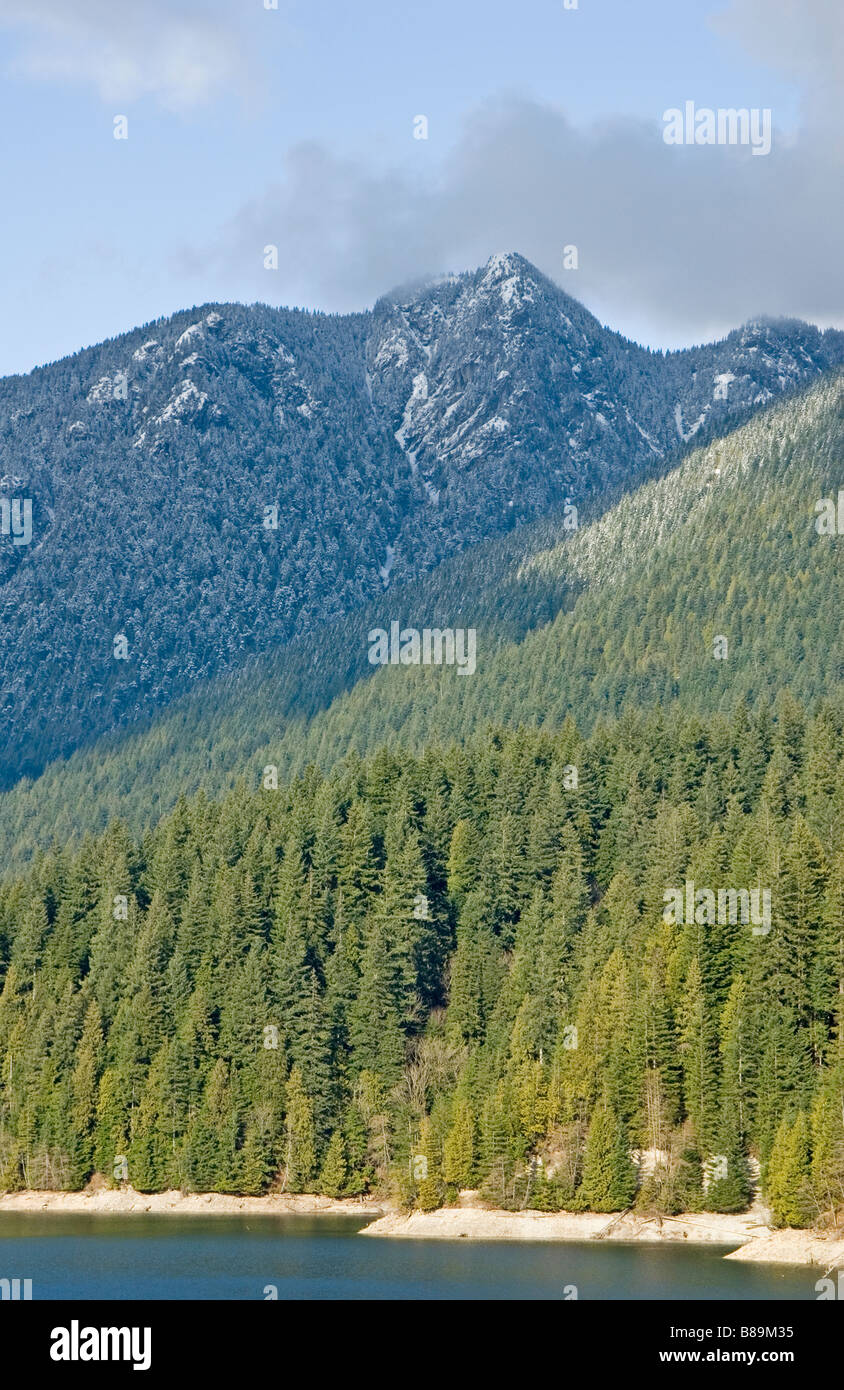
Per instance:
[[[210,260],[241,293],[342,310],[519,250],[613,325],[647,325],[651,341],[702,339],[762,313],[844,322],[844,196],[822,135],[774,140],[755,158],[666,146],[660,117],[584,131],[510,97],[471,115],[428,181],[300,146]],[[278,245],[277,274],[261,270],[266,243]]]

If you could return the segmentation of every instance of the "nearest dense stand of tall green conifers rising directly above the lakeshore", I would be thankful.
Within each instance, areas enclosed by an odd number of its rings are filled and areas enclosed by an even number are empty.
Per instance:
[[[382,751],[43,859],[0,888],[0,1188],[737,1211],[758,1159],[833,1212],[841,719]],[[688,883],[763,909],[666,917]]]

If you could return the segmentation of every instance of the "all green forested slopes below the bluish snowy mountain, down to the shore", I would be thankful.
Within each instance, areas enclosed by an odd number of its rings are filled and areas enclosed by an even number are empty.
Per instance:
[[[177,803],[0,885],[0,1188],[670,1213],[759,1163],[780,1223],[838,1212],[841,402],[6,796],[7,866]],[[360,680],[391,620],[476,627],[477,671]]]

